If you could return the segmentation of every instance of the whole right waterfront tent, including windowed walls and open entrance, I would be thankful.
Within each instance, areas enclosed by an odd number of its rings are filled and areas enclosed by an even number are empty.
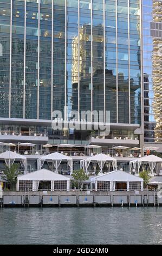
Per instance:
[[[91,189],[95,191],[142,191],[144,180],[121,170],[114,170],[91,178],[90,183]]]

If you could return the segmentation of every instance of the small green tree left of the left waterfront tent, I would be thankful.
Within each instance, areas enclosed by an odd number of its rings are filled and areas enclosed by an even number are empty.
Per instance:
[[[5,174],[4,179],[9,182],[10,190],[14,190],[16,187],[17,176],[21,174],[20,170],[18,170],[18,168],[20,167],[20,164],[14,163],[10,167],[4,164],[4,166],[5,166],[5,169],[3,171],[3,173]]]

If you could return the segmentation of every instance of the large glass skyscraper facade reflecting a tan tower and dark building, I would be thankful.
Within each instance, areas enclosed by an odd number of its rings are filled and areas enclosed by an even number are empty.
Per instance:
[[[1,118],[141,124],[140,1],[0,0],[0,19]]]

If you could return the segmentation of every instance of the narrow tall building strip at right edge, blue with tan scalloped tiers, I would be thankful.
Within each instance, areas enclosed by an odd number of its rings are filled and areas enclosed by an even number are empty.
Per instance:
[[[142,1],[144,65],[144,142],[162,152],[162,2]]]

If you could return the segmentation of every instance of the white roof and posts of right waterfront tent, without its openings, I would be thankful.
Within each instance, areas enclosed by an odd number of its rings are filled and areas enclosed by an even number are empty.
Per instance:
[[[95,190],[99,190],[99,184],[101,182],[109,182],[109,191],[115,191],[116,182],[125,182],[127,184],[127,191],[131,190],[131,184],[129,182],[138,182],[140,184],[141,191],[143,189],[144,180],[134,176],[132,174],[123,172],[122,170],[114,170],[113,172],[95,176],[90,179],[91,183],[95,184]],[[99,182],[99,184],[98,184]]]

